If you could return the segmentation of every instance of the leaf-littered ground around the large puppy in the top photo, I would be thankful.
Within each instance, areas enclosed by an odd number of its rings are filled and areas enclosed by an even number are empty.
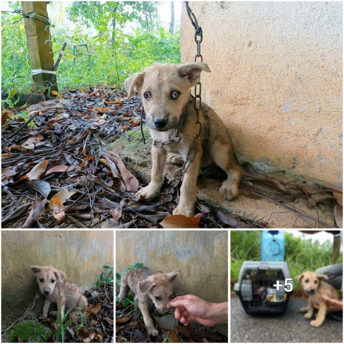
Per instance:
[[[214,208],[196,204],[196,216],[180,226],[170,217],[179,201],[180,178],[165,181],[152,200],[136,200],[143,185],[118,155],[121,147],[106,144],[127,130],[140,130],[138,97],[100,86],[69,90],[56,100],[8,109],[1,116],[1,206],[3,228],[264,228]],[[214,170],[210,173],[213,174]],[[209,176],[209,171],[200,176]],[[212,175],[219,177],[219,175]],[[221,178],[221,176],[220,176]],[[256,186],[268,186],[263,193]],[[315,183],[284,183],[246,166],[240,195],[267,198],[286,211],[309,218],[310,227],[333,227],[302,213],[291,203],[301,198],[309,207],[327,202],[337,224],[342,221],[342,191]],[[323,206],[323,205],[322,205]]]

